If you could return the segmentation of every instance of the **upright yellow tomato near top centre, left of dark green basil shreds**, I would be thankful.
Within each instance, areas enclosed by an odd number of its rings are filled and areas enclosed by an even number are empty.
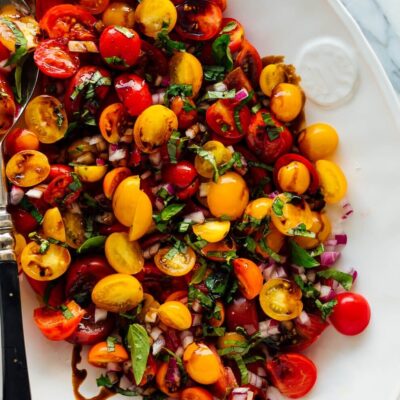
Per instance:
[[[192,54],[176,52],[169,62],[172,84],[192,85],[192,96],[196,97],[203,84],[203,67]]]

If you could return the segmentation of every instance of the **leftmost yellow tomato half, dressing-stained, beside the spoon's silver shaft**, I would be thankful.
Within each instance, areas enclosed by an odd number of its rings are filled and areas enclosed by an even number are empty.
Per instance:
[[[36,186],[50,173],[47,157],[36,150],[23,150],[14,154],[7,163],[6,176],[17,186]]]

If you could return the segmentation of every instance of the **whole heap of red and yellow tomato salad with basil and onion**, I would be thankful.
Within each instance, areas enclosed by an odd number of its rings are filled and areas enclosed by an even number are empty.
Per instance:
[[[34,51],[41,72],[5,143],[34,323],[89,346],[108,393],[301,398],[317,379],[302,351],[369,323],[357,273],[334,267],[347,236],[327,205],[352,213],[338,134],[305,125],[295,68],[225,8],[39,0],[29,32],[0,12],[3,132],[12,66]]]

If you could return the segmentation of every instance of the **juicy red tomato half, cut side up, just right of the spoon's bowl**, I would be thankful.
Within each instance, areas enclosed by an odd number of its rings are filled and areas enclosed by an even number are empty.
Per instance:
[[[52,78],[66,79],[78,71],[79,57],[68,50],[68,39],[48,39],[39,43],[33,56],[39,70]]]

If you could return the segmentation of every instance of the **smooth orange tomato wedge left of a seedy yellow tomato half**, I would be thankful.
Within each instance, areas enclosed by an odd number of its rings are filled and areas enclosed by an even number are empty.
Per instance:
[[[251,300],[258,296],[263,286],[263,276],[260,268],[247,258],[233,260],[233,270],[239,281],[239,288],[246,299]]]

